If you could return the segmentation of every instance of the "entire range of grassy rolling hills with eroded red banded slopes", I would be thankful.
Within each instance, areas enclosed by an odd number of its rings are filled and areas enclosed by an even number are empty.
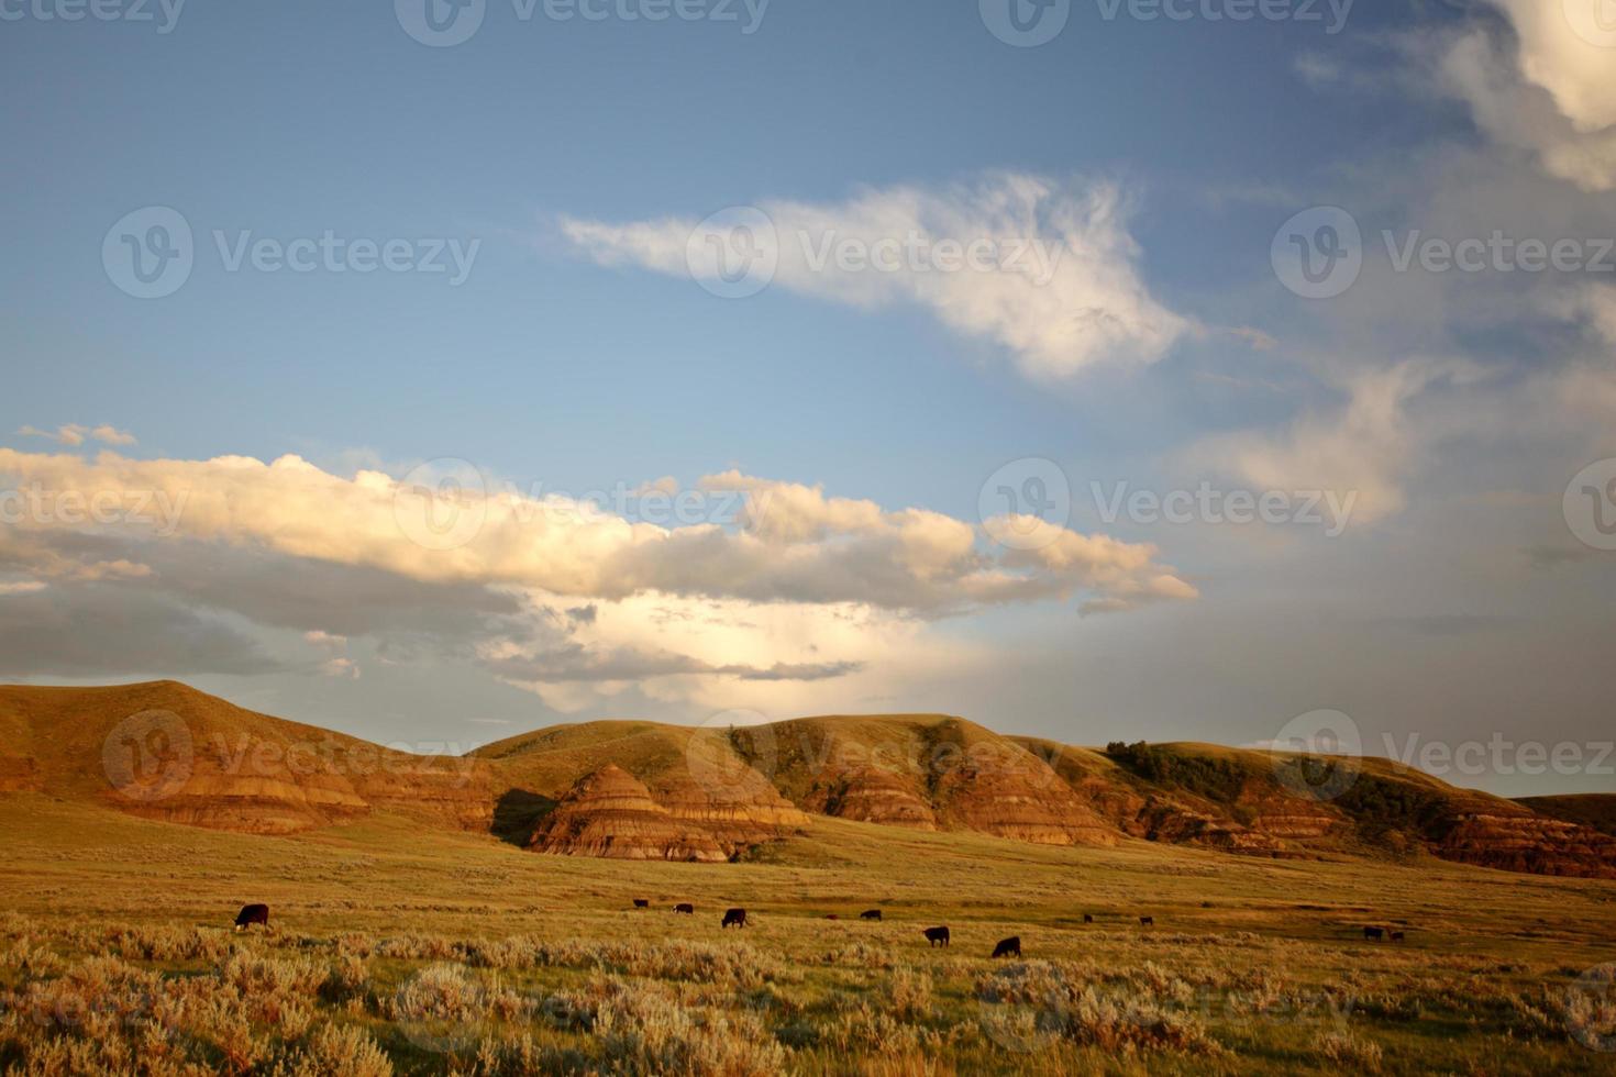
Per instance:
[[[952,715],[588,722],[422,757],[176,681],[0,688],[0,794],[281,835],[381,814],[540,853],[724,861],[835,817],[1050,846],[1419,857],[1616,878],[1616,798],[1508,801],[1383,759],[1099,751]]]

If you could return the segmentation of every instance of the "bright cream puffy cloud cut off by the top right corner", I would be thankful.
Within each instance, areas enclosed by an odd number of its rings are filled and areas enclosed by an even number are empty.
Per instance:
[[[1513,36],[1472,29],[1438,66],[1488,137],[1584,191],[1616,189],[1616,31],[1595,19],[1605,2],[1488,0]]]

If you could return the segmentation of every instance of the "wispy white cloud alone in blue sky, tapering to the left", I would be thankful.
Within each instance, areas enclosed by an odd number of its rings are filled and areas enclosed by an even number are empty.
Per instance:
[[[1191,329],[1144,284],[1130,202],[1117,184],[997,174],[758,208],[774,226],[772,242],[764,239],[777,254],[774,284],[853,307],[926,308],[955,333],[1007,347],[1037,379],[1107,362],[1152,363]],[[698,249],[706,239],[701,228],[695,218],[561,220],[562,234],[603,265],[705,278],[716,262],[688,258],[692,236]],[[730,234],[711,239],[724,244]]]

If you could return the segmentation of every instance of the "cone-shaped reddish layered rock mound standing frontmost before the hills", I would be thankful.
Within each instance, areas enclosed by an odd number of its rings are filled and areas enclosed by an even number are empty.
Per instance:
[[[632,773],[606,765],[579,780],[528,841],[535,853],[619,861],[727,861],[713,835],[675,819]]]

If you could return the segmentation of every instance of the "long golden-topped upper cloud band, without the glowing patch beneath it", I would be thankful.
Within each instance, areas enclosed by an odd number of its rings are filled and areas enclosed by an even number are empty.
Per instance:
[[[380,471],[352,480],[299,457],[133,460],[103,452],[24,454],[0,449],[0,475],[87,504],[145,501],[183,505],[162,528],[239,549],[380,568],[427,583],[516,585],[579,599],[642,593],[742,597],[756,602],[866,602],[949,614],[1005,601],[1065,597],[1081,588],[1117,591],[1149,555],[1123,543],[1088,546],[1088,560],[1008,562],[973,525],[923,509],[886,510],[827,497],[797,483],[740,473],[709,476],[708,491],[745,496],[739,530],[713,523],[663,528],[629,522],[562,497],[514,489],[440,491]],[[48,497],[45,499],[50,501]],[[155,520],[108,513],[158,533]],[[425,526],[452,518],[452,533]],[[472,526],[461,526],[470,523]],[[74,526],[48,504],[23,517],[23,533]],[[444,534],[454,544],[438,541]],[[991,538],[987,534],[986,538]],[[1118,559],[1122,559],[1118,562]],[[1010,572],[1023,568],[1025,572]]]

